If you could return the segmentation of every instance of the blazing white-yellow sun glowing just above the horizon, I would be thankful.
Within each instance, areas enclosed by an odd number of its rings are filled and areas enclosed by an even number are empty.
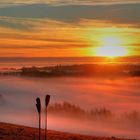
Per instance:
[[[101,42],[102,45],[95,50],[96,56],[114,58],[127,54],[127,50],[121,46],[121,40],[117,37],[105,37]]]

